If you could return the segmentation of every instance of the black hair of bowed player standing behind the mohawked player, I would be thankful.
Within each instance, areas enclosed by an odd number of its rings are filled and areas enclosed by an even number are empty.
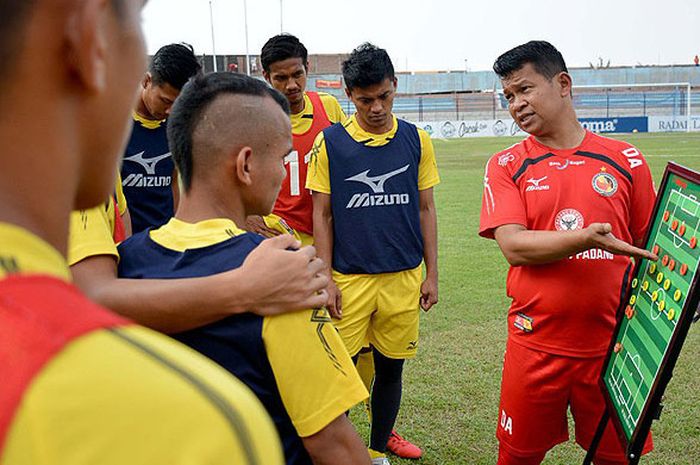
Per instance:
[[[191,45],[180,43],[161,47],[151,60],[148,71],[153,84],[170,84],[180,90],[182,86],[202,69]]]

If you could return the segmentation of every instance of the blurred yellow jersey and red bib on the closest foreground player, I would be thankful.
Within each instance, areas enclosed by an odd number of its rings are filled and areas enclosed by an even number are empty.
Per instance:
[[[0,263],[3,292],[24,289],[0,302],[0,432],[9,419],[1,465],[283,463],[269,417],[243,384],[87,301],[50,245],[0,223]],[[71,330],[91,318],[115,323]]]

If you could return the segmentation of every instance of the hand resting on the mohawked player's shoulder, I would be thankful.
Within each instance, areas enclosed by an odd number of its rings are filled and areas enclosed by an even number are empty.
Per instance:
[[[323,260],[316,257],[313,247],[299,249],[300,245],[284,234],[263,241],[248,255],[241,270],[248,284],[251,311],[275,315],[326,304],[329,278],[322,273]]]

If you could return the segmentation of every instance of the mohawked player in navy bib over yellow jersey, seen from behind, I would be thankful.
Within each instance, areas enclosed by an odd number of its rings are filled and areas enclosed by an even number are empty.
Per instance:
[[[240,266],[266,240],[237,226],[267,214],[292,150],[287,101],[236,73],[184,88],[168,139],[181,173],[176,217],[119,246],[119,275],[206,276]],[[238,376],[272,416],[288,465],[369,465],[345,412],[367,398],[326,310],[242,314],[173,335]]]

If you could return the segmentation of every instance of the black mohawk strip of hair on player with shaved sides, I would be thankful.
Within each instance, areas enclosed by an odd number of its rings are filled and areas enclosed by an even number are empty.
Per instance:
[[[188,82],[175,100],[168,118],[168,144],[180,172],[185,191],[192,186],[192,137],[207,107],[220,95],[271,97],[289,114],[289,102],[278,91],[259,79],[239,73],[198,75]]]

